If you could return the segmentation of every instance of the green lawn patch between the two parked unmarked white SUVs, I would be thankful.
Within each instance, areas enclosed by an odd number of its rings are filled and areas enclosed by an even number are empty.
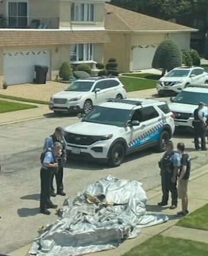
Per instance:
[[[124,84],[127,92],[139,91],[156,88],[157,82],[149,79],[138,79],[133,77],[120,77],[121,83]]]

